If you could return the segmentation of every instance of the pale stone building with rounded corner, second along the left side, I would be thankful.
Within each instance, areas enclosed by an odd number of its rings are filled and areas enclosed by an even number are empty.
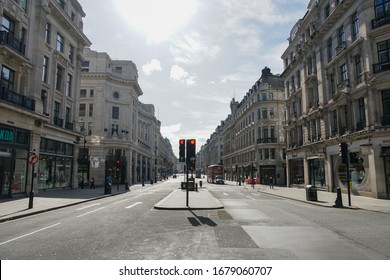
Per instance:
[[[78,176],[96,185],[107,177],[114,184],[156,182],[172,157],[161,152],[166,143],[154,106],[139,101],[136,65],[89,48],[83,57]]]

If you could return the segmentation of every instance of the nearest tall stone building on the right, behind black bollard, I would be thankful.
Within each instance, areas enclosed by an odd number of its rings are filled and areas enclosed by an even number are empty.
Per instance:
[[[390,194],[389,1],[310,1],[282,55],[287,185]],[[339,144],[349,146],[349,169]]]

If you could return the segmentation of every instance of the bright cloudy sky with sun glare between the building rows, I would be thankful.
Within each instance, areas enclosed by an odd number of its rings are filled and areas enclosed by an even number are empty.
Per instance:
[[[79,0],[91,49],[131,60],[161,134],[197,151],[281,55],[309,0]]]

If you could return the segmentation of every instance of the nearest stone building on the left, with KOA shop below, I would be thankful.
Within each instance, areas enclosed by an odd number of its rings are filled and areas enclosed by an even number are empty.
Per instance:
[[[1,1],[0,196],[72,187],[81,55],[76,0]]]

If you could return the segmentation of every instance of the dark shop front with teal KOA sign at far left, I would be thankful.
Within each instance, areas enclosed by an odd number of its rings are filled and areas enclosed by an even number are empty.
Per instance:
[[[26,192],[30,132],[0,125],[0,197]]]

